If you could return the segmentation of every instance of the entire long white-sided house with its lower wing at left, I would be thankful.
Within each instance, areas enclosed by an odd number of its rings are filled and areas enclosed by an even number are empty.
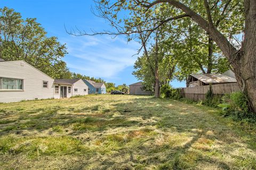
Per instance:
[[[0,103],[87,94],[82,79],[54,80],[25,61],[0,62]]]

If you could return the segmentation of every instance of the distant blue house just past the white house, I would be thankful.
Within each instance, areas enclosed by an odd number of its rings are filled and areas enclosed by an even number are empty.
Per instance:
[[[91,80],[84,80],[84,82],[88,86],[89,94],[106,94],[106,86],[104,83],[96,83]]]

